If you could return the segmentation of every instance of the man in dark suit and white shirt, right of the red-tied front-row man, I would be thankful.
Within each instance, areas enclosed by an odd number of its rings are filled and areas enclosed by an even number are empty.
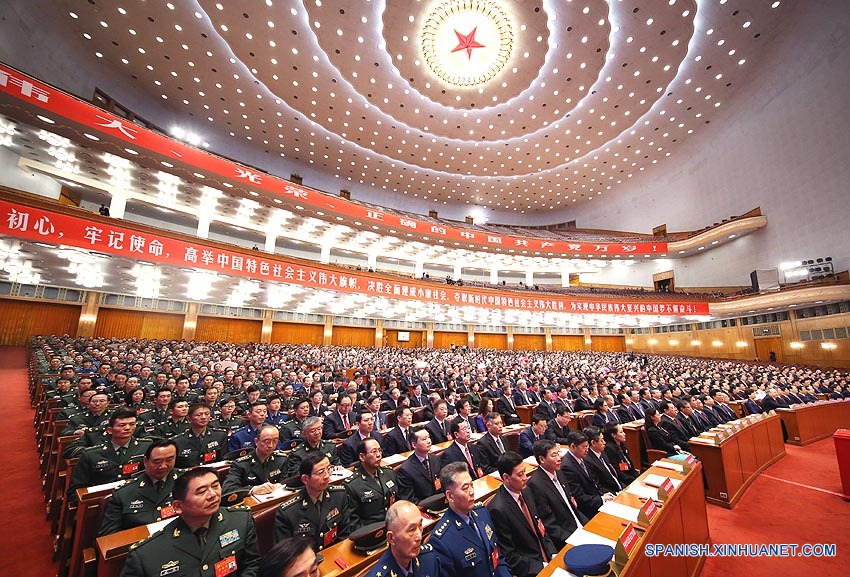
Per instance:
[[[534,457],[540,466],[529,477],[528,488],[534,494],[546,534],[560,551],[573,531],[587,523],[587,517],[579,510],[576,498],[570,493],[569,482],[560,470],[558,445],[548,439],[537,441]]]

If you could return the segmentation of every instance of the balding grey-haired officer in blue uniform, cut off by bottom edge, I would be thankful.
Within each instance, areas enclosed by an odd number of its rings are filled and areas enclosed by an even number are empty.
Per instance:
[[[431,545],[422,545],[422,513],[410,501],[396,501],[387,510],[389,547],[366,577],[449,577]]]

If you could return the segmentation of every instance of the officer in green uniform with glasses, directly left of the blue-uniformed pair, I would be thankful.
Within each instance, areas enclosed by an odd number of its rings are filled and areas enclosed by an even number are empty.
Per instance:
[[[274,540],[310,537],[313,549],[321,551],[351,532],[348,497],[342,486],[330,484],[331,462],[324,453],[313,451],[299,467],[304,487],[278,508]]]

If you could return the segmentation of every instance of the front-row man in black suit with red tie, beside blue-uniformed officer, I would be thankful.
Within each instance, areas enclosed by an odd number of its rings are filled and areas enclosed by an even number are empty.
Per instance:
[[[517,577],[537,575],[557,552],[546,534],[531,492],[526,489],[527,467],[513,451],[499,457],[503,485],[487,505],[499,546]]]

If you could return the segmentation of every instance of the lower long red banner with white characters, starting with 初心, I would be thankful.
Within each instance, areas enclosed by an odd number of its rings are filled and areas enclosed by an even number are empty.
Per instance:
[[[165,234],[133,230],[127,223],[103,223],[0,200],[0,234],[97,251],[130,259],[212,271],[303,287],[359,293],[453,306],[476,306],[539,312],[620,315],[708,315],[706,302],[592,300],[562,296],[463,289],[428,282],[387,279],[341,268],[310,266],[240,252]],[[123,225],[123,226],[122,226]]]

